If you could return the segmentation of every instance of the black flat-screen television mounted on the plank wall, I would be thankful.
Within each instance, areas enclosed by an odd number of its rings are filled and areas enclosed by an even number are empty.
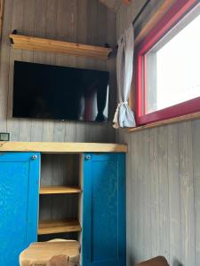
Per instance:
[[[12,116],[68,121],[108,121],[104,71],[14,62]]]

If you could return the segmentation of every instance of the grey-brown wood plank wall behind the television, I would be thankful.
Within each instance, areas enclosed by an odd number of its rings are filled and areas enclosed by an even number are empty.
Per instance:
[[[5,0],[3,39],[0,48],[0,131],[11,132],[12,141],[115,142],[108,124],[72,121],[12,119],[13,61],[77,66],[110,71],[110,121],[116,107],[116,64],[38,51],[14,51],[8,35],[13,29],[63,41],[116,44],[116,14],[99,0]]]

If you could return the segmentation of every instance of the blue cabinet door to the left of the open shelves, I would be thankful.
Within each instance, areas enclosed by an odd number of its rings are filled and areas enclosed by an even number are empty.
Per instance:
[[[36,241],[39,165],[39,153],[0,153],[0,265]]]

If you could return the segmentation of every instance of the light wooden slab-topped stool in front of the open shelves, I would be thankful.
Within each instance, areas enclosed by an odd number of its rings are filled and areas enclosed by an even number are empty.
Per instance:
[[[80,245],[74,240],[32,243],[20,254],[20,266],[77,266],[79,260]]]

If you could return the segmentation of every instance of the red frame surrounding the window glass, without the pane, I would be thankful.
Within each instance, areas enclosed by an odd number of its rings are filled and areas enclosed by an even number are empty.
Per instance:
[[[196,6],[196,0],[178,0],[164,15],[135,51],[135,88],[136,88],[136,122],[144,125],[154,121],[164,121],[181,115],[200,111],[200,97],[188,100],[175,106],[170,106],[153,113],[145,113],[145,60],[144,55],[189,11]],[[144,88],[144,90],[143,90]],[[143,112],[144,110],[144,112]]]

